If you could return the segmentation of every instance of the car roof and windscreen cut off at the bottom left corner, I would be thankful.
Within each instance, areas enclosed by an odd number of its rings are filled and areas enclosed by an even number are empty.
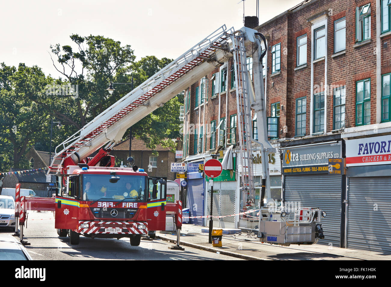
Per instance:
[[[11,236],[0,236],[0,260],[32,260],[26,248]]]

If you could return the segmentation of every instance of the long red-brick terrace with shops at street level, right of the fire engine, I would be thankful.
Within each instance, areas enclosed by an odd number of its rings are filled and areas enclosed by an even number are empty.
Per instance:
[[[326,210],[322,244],[391,253],[390,7],[388,0],[306,0],[251,27],[267,39],[266,110],[278,123],[268,125],[277,150],[269,156],[272,197]],[[247,61],[251,73],[251,57]],[[224,153],[227,139],[235,142],[232,67],[229,60],[186,91],[186,162],[204,162],[219,146]],[[252,132],[256,138],[256,120]],[[338,159],[340,168],[329,171],[329,161]],[[257,160],[254,155],[255,165]],[[207,185],[192,176],[188,185],[198,180],[196,198]],[[233,198],[224,204],[234,205],[235,214],[246,209],[238,182]],[[216,212],[226,208],[220,203]],[[254,223],[236,217],[235,226],[253,229]]]

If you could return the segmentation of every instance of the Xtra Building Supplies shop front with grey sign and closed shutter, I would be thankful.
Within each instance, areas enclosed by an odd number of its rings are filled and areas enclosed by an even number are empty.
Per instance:
[[[318,207],[325,239],[319,244],[341,246],[343,161],[341,141],[282,149],[283,200],[288,209]]]

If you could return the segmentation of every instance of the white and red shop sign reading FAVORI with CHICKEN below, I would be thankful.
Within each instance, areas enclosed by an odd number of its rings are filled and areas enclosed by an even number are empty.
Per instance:
[[[391,135],[346,141],[346,166],[391,164]]]

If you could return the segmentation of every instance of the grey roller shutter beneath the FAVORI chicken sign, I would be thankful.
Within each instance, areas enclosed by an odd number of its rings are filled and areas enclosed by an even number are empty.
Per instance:
[[[347,248],[391,253],[391,177],[351,177]]]

